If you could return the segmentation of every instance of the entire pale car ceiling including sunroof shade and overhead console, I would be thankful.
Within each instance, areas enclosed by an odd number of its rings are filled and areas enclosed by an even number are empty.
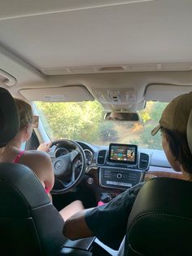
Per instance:
[[[13,95],[50,87],[55,99],[55,87],[85,86],[107,109],[134,109],[143,107],[145,97],[164,100],[163,89],[145,95],[149,85],[171,86],[168,100],[178,86],[181,92],[192,90],[190,0],[0,0],[0,5],[0,85]],[[77,96],[68,93],[68,99]],[[120,100],[110,102],[111,95]],[[124,95],[135,99],[132,105],[124,104]]]

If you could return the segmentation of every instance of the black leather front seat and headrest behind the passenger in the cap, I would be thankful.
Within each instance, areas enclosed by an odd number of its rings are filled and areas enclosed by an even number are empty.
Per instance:
[[[187,126],[192,153],[192,110]],[[124,255],[192,255],[192,182],[156,178],[146,182],[129,215]]]

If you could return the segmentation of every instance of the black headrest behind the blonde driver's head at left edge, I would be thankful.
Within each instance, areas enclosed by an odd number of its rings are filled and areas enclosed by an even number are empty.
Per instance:
[[[0,87],[0,148],[15,137],[20,128],[15,101],[8,90]]]

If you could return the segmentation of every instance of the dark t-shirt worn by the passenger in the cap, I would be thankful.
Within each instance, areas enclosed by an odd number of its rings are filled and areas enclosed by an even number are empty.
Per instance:
[[[112,249],[119,249],[133,203],[143,183],[129,188],[106,205],[85,213],[85,222],[94,236]]]

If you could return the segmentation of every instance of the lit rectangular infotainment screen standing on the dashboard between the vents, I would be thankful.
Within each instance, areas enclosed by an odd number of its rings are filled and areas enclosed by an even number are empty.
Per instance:
[[[109,145],[109,161],[135,165],[137,163],[137,146],[111,143]]]

